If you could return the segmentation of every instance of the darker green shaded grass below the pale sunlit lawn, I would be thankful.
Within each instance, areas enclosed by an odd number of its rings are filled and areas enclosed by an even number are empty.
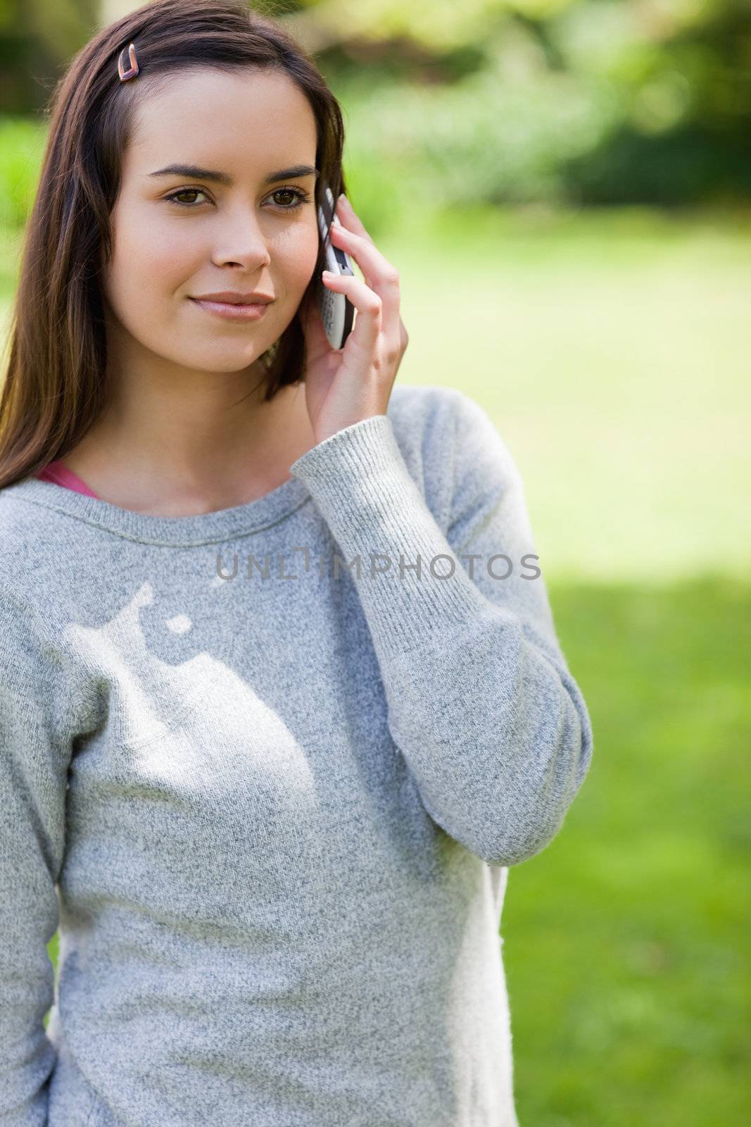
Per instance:
[[[521,1127],[741,1127],[751,591],[549,584],[594,755],[501,923]]]

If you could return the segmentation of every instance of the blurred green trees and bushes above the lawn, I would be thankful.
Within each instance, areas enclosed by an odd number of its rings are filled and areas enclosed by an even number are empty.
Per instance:
[[[102,18],[133,7],[110,2]],[[749,0],[252,7],[289,28],[340,98],[350,194],[376,228],[415,194],[426,207],[751,199]],[[93,27],[91,0],[0,0],[2,110],[41,121]],[[17,222],[35,176],[8,160],[0,222]]]

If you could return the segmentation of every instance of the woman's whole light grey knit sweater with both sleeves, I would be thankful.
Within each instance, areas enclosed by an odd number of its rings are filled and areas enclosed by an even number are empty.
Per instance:
[[[508,867],[592,754],[519,473],[402,384],[290,471],[0,490],[5,1127],[517,1124]]]

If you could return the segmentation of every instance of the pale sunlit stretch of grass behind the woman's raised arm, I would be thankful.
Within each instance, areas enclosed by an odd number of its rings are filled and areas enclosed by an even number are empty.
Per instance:
[[[467,212],[379,246],[397,379],[488,409],[546,575],[748,577],[751,214]]]

